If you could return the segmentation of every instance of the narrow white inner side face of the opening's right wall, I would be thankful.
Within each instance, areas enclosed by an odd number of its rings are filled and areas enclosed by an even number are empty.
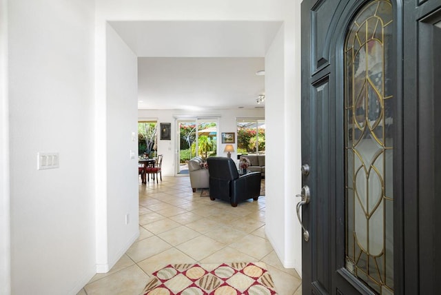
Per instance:
[[[285,124],[285,81],[284,81],[284,26],[280,28],[278,34],[267,52],[265,57],[265,94],[267,96],[265,121],[265,143],[266,154],[270,158],[273,152],[285,155],[287,147],[280,139],[287,139],[289,126]],[[285,156],[279,156],[274,165],[271,161],[265,161],[265,193],[267,196],[266,225],[265,232],[275,248],[278,256],[283,256],[285,252],[285,241],[287,235],[287,225],[285,224],[285,214],[280,214],[280,209],[285,206],[285,169],[290,165],[285,161]],[[286,261],[285,261],[286,262]]]

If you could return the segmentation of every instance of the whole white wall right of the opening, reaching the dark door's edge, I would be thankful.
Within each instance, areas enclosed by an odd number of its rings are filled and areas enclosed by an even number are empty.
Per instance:
[[[300,11],[300,6],[294,4],[287,9],[288,12]],[[298,199],[294,198],[301,180],[298,168],[301,152],[300,76],[294,78],[300,69],[289,66],[300,67],[300,58],[296,59],[293,54],[300,41],[300,29],[292,23],[293,19],[286,18],[265,57],[265,91],[267,101],[271,102],[265,109],[267,154],[272,156],[274,151],[283,154],[265,167],[266,190],[269,197],[274,197],[267,202],[265,230],[278,256],[283,257],[285,267],[294,267],[301,275],[301,230],[295,212]],[[299,38],[289,38],[293,35]]]

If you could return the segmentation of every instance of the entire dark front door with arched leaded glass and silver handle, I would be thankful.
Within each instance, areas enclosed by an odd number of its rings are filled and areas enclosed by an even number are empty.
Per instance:
[[[439,289],[440,7],[302,1],[303,294]]]

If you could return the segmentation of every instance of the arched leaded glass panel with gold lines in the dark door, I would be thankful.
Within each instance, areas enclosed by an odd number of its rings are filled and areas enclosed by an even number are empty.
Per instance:
[[[369,1],[345,39],[346,268],[393,294],[393,8]]]

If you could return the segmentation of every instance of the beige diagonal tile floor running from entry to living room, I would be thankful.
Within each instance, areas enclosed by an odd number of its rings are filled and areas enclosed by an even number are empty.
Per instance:
[[[141,294],[150,274],[170,263],[266,263],[280,295],[301,295],[301,279],[280,263],[265,237],[265,196],[232,207],[195,193],[187,176],[139,183],[138,240],[107,274],[78,293]]]

